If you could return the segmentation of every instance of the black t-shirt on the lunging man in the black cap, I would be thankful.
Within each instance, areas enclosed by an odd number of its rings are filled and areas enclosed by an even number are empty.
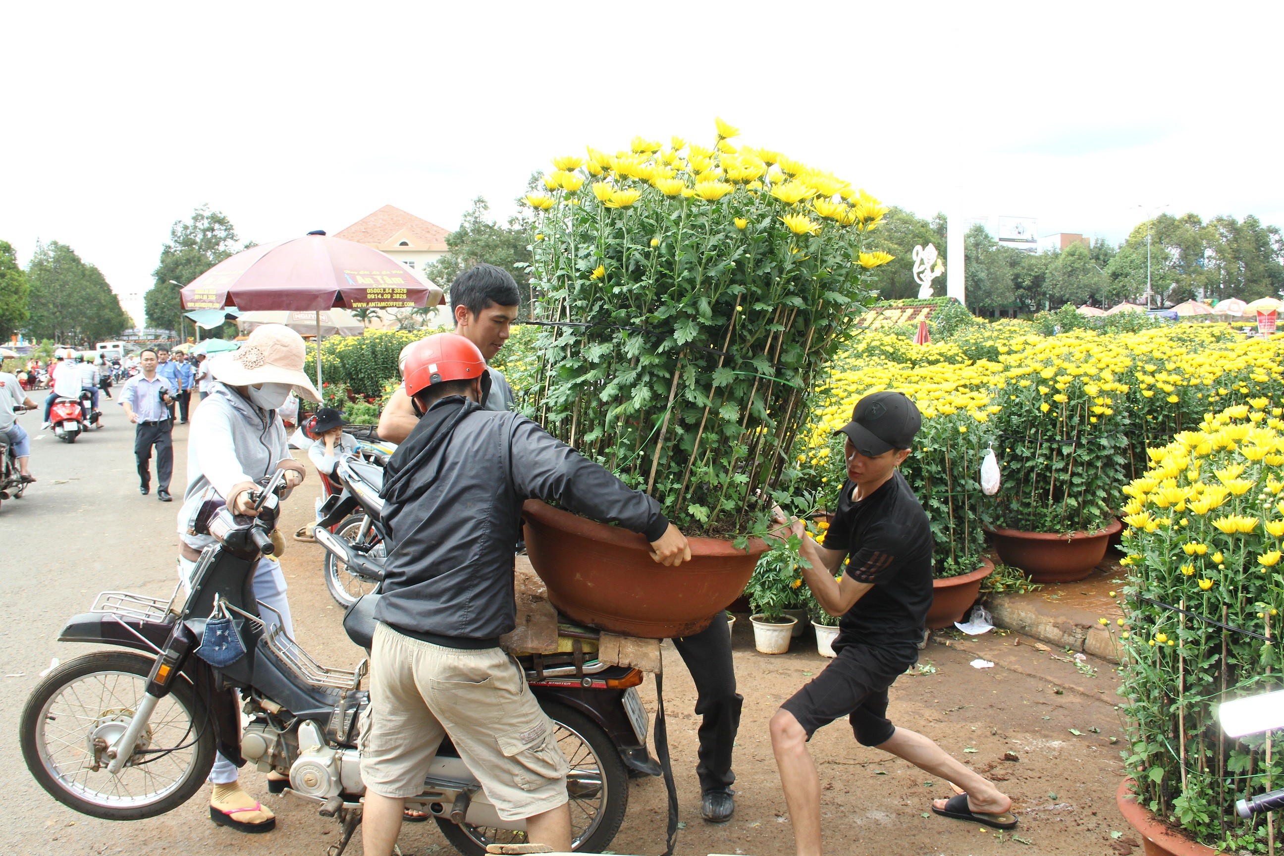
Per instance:
[[[842,484],[824,547],[846,551],[847,576],[874,586],[838,621],[837,642],[917,644],[932,606],[927,513],[899,470],[860,502],[851,499],[855,486],[851,480]]]

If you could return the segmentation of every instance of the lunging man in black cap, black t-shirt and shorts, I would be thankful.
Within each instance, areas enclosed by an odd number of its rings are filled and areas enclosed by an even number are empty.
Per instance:
[[[801,536],[810,562],[802,576],[829,615],[842,616],[836,657],[772,717],[772,748],[799,856],[820,853],[820,779],[806,743],[822,725],[847,716],[856,740],[891,752],[967,793],[936,800],[932,811],[998,829],[1017,825],[1012,800],[931,739],[887,720],[887,688],[918,661],[932,604],[932,531],[898,467],[909,457],[922,417],[901,393],[865,395],[840,431],[847,480],[824,545],[801,521],[777,522]],[[849,558],[850,557],[850,558]],[[835,574],[847,560],[842,576]]]

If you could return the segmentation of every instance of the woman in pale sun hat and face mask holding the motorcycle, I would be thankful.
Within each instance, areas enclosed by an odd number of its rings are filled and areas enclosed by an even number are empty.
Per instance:
[[[267,323],[250,332],[239,350],[209,361],[214,382],[191,418],[187,490],[178,511],[178,566],[185,583],[190,581],[200,551],[213,542],[195,531],[196,513],[205,501],[221,498],[235,513],[252,515],[250,494],[263,476],[285,470],[290,489],[303,481],[306,470],[290,457],[277,409],[291,390],[320,403],[321,397],[303,371],[306,353],[299,334]],[[272,540],[273,556],[280,556],[285,542],[276,533]],[[254,597],[280,613],[285,631],[293,637],[285,576],[275,558],[259,560]],[[272,621],[267,615],[263,617]],[[288,779],[273,775],[268,775],[268,791],[277,793]],[[209,782],[214,785],[209,801],[209,817],[214,823],[240,832],[267,832],[276,825],[275,815],[241,789],[236,766],[222,755],[214,761]]]

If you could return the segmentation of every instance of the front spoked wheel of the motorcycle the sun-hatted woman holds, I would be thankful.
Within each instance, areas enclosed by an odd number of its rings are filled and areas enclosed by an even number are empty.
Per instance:
[[[22,711],[27,769],[54,800],[104,820],[172,811],[205,783],[214,733],[205,705],[178,679],[139,738],[140,752],[117,775],[103,749],[123,734],[148,689],[154,660],[100,651],[54,669]]]

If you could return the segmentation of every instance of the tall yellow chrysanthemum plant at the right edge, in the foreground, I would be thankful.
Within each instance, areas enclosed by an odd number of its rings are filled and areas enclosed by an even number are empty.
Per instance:
[[[1216,719],[1222,701],[1276,688],[1281,669],[1284,421],[1274,400],[1206,413],[1149,449],[1121,495],[1125,761],[1144,805],[1234,852],[1266,852],[1265,820],[1239,820],[1235,800],[1284,778],[1261,735],[1228,739]]]

